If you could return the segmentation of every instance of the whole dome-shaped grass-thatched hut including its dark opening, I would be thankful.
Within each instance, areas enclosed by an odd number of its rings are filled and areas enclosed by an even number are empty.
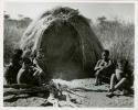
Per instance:
[[[39,66],[53,78],[84,78],[103,50],[89,20],[71,8],[44,12],[26,29],[21,48],[38,51]]]

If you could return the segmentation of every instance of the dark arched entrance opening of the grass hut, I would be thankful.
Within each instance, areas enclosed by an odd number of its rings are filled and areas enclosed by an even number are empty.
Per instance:
[[[70,23],[54,22],[43,33],[40,44],[45,58],[44,65],[53,78],[73,79],[81,76],[81,41]]]

